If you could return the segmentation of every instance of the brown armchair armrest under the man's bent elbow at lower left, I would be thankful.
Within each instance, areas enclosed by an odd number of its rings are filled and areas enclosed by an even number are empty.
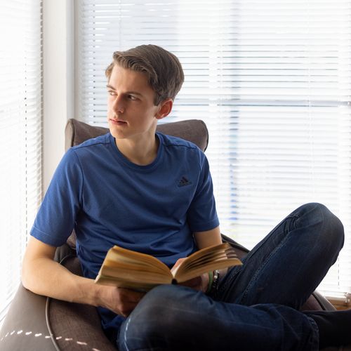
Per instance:
[[[74,274],[81,267],[74,250],[58,248],[55,260]],[[2,351],[116,351],[102,331],[95,307],[47,298],[20,284],[0,330]]]

